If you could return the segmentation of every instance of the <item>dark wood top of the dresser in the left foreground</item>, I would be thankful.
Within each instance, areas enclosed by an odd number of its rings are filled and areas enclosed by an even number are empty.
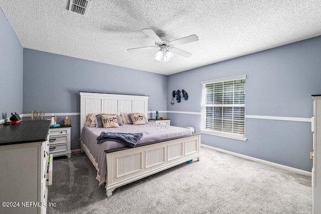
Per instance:
[[[0,146],[46,141],[49,120],[27,120],[15,125],[0,125]]]

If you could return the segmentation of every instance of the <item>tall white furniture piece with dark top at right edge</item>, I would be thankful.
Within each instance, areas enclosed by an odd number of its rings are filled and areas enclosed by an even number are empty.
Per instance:
[[[313,131],[312,205],[313,213],[321,213],[321,95],[314,98],[311,129]]]

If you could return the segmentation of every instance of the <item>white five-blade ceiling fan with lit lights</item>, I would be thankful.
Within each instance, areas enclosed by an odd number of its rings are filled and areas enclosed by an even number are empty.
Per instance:
[[[127,49],[127,51],[159,48],[159,51],[155,55],[154,62],[161,62],[162,59],[164,62],[168,62],[170,61],[171,57],[173,57],[173,54],[178,54],[188,58],[192,56],[191,53],[175,48],[174,46],[196,42],[199,40],[198,36],[196,36],[195,34],[188,37],[183,37],[181,39],[170,41],[169,37],[166,34],[160,34],[159,36],[157,36],[155,32],[153,32],[153,30],[151,29],[142,29],[142,32],[144,32],[148,37],[153,39],[155,41],[155,45],[141,48],[130,48]]]

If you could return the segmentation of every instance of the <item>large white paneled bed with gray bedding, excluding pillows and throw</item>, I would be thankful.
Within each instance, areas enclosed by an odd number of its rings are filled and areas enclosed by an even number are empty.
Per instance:
[[[86,115],[93,112],[139,112],[147,116],[147,103],[148,96],[80,92],[81,151],[96,167],[99,184],[106,183],[107,197],[119,186],[200,158],[201,134],[190,129],[149,122],[107,129],[84,126]],[[143,137],[134,148],[112,141],[97,144],[97,136],[107,130],[141,132]]]

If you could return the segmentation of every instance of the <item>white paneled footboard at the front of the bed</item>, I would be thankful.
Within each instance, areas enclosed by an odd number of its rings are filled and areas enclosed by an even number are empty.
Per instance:
[[[124,184],[200,157],[201,134],[106,153],[106,193]]]

